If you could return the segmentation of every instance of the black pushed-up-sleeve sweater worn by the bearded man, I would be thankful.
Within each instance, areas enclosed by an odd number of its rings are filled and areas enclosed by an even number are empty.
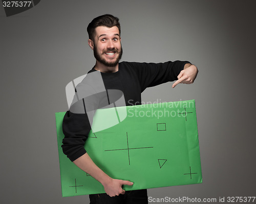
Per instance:
[[[141,104],[141,93],[151,86],[177,80],[180,71],[188,61],[168,61],[164,63],[120,62],[115,73],[100,73],[105,89],[123,92],[125,104]],[[95,72],[92,69],[88,73]],[[97,83],[97,82],[95,82]],[[87,114],[67,111],[63,118],[62,130],[65,134],[62,150],[73,162],[86,153],[84,143],[91,130]]]

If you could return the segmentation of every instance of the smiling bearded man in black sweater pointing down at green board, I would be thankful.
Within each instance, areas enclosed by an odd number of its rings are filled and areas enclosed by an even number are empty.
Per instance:
[[[141,93],[146,87],[177,80],[173,84],[174,88],[179,83],[193,83],[197,76],[197,67],[188,61],[119,63],[122,46],[117,17],[109,14],[98,16],[89,24],[87,31],[88,44],[96,58],[96,64],[89,73],[100,72],[106,91],[121,90],[126,105],[141,104]],[[131,186],[132,182],[111,178],[94,164],[83,148],[90,129],[87,114],[74,114],[72,111],[67,111],[63,119],[65,134],[63,152],[80,169],[97,179],[106,192],[106,194],[90,195],[91,203],[147,203],[146,190],[125,192],[122,185]]]

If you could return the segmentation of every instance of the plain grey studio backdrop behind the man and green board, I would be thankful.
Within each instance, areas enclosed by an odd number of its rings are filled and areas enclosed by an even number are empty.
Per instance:
[[[65,86],[94,65],[86,28],[105,13],[120,18],[122,60],[199,69],[193,85],[148,88],[142,100],[196,100],[203,184],[148,196],[256,196],[254,9],[254,1],[42,0],[6,17],[0,8],[1,203],[89,203],[61,197],[54,113],[68,108]]]

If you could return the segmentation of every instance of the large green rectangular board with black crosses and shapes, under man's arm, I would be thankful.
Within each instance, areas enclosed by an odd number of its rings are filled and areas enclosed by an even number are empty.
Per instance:
[[[64,115],[56,113],[62,196],[104,193],[63,154]],[[98,109],[92,130],[84,148],[106,174],[134,182],[124,190],[202,183],[195,100]]]

